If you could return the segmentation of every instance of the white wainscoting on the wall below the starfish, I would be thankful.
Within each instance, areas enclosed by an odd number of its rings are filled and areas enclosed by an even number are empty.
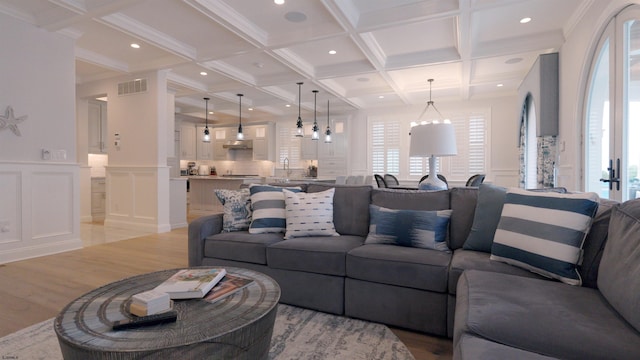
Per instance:
[[[0,163],[0,263],[82,247],[79,167]]]

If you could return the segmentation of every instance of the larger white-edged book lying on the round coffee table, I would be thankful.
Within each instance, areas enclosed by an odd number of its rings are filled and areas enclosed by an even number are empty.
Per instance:
[[[180,270],[155,290],[166,292],[171,299],[201,299],[227,271],[222,268]]]

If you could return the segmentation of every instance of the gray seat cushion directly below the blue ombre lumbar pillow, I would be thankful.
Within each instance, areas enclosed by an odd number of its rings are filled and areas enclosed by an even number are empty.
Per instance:
[[[447,291],[451,253],[365,244],[347,254],[347,277],[436,292]]]

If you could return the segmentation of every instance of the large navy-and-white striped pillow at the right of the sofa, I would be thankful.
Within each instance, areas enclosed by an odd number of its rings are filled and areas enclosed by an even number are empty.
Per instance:
[[[493,238],[491,259],[581,285],[577,265],[597,210],[595,193],[510,189]]]

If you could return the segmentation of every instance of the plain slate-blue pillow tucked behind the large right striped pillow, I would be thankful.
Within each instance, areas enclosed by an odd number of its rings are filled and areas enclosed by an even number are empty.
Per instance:
[[[465,250],[491,252],[507,189],[491,184],[480,184],[476,212],[471,232],[462,246]]]

